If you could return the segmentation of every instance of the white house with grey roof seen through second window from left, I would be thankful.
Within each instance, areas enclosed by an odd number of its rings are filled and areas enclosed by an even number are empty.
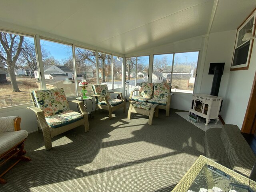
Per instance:
[[[72,79],[72,71],[65,66],[48,66],[44,67],[44,78],[45,79],[56,79],[56,80],[65,80]],[[35,78],[39,78],[38,69],[34,70]]]

